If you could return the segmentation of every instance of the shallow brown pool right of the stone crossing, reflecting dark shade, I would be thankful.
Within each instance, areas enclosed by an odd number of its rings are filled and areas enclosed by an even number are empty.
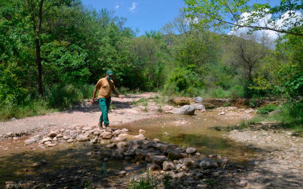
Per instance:
[[[218,112],[197,112],[195,116],[161,116],[155,119],[144,119],[134,123],[119,126],[119,129],[131,130],[129,134],[138,135],[139,129],[146,133],[144,136],[152,139],[158,138],[162,142],[171,142],[179,146],[194,147],[198,152],[208,154],[219,154],[231,160],[244,161],[253,156],[256,151],[238,145],[221,135],[228,132],[216,131],[212,127],[227,127],[236,123],[235,120],[224,119],[218,116]],[[206,120],[204,120],[206,119]],[[164,133],[168,132],[166,136]],[[245,154],[247,154],[245,156]]]

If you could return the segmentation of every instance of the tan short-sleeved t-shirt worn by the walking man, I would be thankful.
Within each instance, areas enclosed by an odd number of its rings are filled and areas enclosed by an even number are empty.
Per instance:
[[[98,99],[109,98],[112,94],[112,90],[116,89],[113,80],[108,80],[106,77],[100,79],[95,87],[99,89]]]

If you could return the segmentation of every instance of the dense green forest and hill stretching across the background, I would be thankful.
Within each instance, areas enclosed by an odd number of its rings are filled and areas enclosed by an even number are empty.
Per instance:
[[[289,85],[302,78],[301,36],[274,40],[265,32],[219,35],[197,29],[195,19],[181,8],[161,31],[136,37],[137,31],[125,27],[127,19],[114,11],[98,12],[79,0],[41,2],[0,2],[0,101],[5,119],[24,107],[44,111],[90,98],[106,70],[113,70],[120,93],[137,89],[175,96],[262,98],[302,91],[302,81]],[[290,45],[293,41],[295,46]]]

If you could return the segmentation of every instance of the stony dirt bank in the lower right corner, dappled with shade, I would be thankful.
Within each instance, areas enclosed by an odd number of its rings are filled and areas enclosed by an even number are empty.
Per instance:
[[[261,122],[245,131],[232,131],[230,138],[265,153],[239,171],[234,179],[244,188],[303,188],[303,138],[291,135],[279,123]]]

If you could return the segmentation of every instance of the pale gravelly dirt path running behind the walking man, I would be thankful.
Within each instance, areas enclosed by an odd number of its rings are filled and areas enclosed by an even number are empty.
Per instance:
[[[116,109],[111,109],[108,113],[110,125],[119,123],[133,122],[135,120],[155,116],[155,103],[148,103],[148,112],[143,111],[143,106],[133,106],[132,101],[150,96],[159,95],[158,93],[142,93],[138,95],[125,95],[123,99],[112,97],[112,102]],[[0,122],[0,137],[6,133],[27,133],[28,135],[46,134],[50,129],[67,129],[71,126],[93,126],[97,125],[101,115],[100,106],[97,100],[92,105],[90,100],[85,100],[74,109],[65,112],[50,113],[43,116],[27,117],[14,121]]]

